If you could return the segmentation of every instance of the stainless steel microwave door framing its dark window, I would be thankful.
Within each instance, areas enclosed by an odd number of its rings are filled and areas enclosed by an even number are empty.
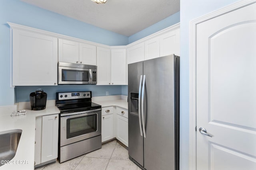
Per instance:
[[[92,84],[92,69],[58,66],[58,84]]]

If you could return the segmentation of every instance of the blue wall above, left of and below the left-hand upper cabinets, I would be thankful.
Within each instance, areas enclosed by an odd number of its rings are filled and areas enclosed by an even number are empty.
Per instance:
[[[0,0],[0,72],[2,73],[0,75],[0,106],[28,101],[30,92],[38,88],[33,86],[16,87],[15,90],[10,88],[10,27],[6,23],[7,21],[105,45],[128,44],[128,37],[124,35],[107,31],[18,0]],[[89,85],[84,87],[85,90],[92,90],[93,96],[104,96],[106,91],[109,91],[110,95],[121,94],[122,92],[120,86],[103,87]],[[42,88],[48,91],[48,99],[53,99],[55,97],[52,95],[56,91],[62,89],[73,90],[76,89],[76,86],[44,86]],[[81,86],[77,87],[77,89],[81,88]]]

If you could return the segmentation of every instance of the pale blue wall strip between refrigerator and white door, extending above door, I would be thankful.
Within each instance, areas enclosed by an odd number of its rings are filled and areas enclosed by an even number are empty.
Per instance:
[[[190,21],[238,0],[180,0],[180,170],[189,169]]]

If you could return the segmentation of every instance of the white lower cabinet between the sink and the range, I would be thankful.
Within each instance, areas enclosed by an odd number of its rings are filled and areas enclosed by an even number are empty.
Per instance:
[[[58,157],[58,117],[58,114],[36,117],[35,165]]]

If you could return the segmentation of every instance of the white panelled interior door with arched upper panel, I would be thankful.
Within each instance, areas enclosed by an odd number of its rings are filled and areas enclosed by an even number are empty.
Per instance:
[[[256,3],[196,34],[197,170],[256,170]]]

